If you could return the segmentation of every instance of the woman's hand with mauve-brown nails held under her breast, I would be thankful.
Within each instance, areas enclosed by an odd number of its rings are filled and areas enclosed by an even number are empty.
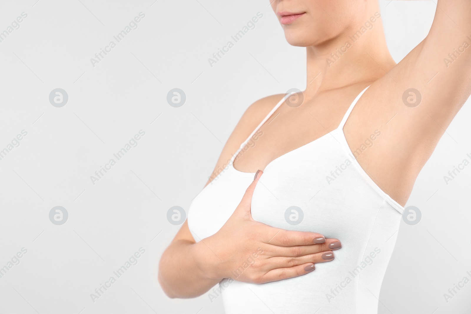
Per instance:
[[[209,278],[264,283],[307,274],[316,263],[333,260],[337,239],[322,234],[287,231],[252,219],[251,202],[262,171],[221,229],[197,244],[201,269]]]

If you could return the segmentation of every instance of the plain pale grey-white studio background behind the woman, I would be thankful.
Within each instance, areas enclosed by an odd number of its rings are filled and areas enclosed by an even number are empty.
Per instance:
[[[286,43],[266,0],[36,1],[0,2],[0,32],[28,15],[0,42],[0,150],[28,132],[0,160],[0,267],[27,249],[0,278],[0,313],[223,313],[221,298],[169,299],[158,285],[159,258],[179,229],[167,210],[187,210],[248,105],[305,88],[305,48]],[[380,1],[398,62],[428,33],[436,4]],[[92,66],[139,12],[138,28]],[[211,67],[257,12],[256,27]],[[62,108],[49,103],[56,88],[69,97]],[[167,104],[173,88],[187,95],[180,108]],[[470,312],[471,283],[443,296],[471,279],[471,166],[448,185],[443,178],[470,160],[470,111],[468,101],[417,178],[407,206],[422,220],[400,227],[381,314]],[[64,225],[49,220],[55,206],[68,211]],[[90,293],[141,247],[138,263],[93,302]]]

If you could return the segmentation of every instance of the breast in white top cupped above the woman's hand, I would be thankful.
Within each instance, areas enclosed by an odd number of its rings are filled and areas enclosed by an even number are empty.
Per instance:
[[[357,242],[367,241],[367,230],[371,230],[385,201],[332,141],[335,139],[269,164],[253,193],[252,217],[277,228],[312,231],[326,237],[349,235]],[[292,210],[303,217],[286,219],[286,211]]]

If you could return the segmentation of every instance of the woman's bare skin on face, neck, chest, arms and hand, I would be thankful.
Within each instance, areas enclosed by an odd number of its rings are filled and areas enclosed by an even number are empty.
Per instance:
[[[374,145],[357,155],[373,181],[404,206],[415,179],[440,137],[471,94],[471,47],[460,55],[455,48],[471,44],[471,1],[438,0],[429,34],[396,64],[386,46],[377,0],[275,0],[275,13],[304,13],[282,25],[286,40],[307,49],[307,87],[296,108],[281,105],[261,126],[263,138],[236,158],[237,170],[254,173],[277,157],[338,127],[353,99],[367,86],[343,131],[352,151],[381,131]],[[278,19],[281,16],[277,15]],[[341,56],[341,48],[370,21],[370,27]],[[463,49],[461,49],[463,51]],[[449,53],[455,53],[453,59]],[[334,62],[327,62],[330,58]],[[444,58],[452,63],[446,64]],[[438,73],[438,74],[437,74]],[[406,106],[403,94],[415,88],[422,96]],[[252,104],[238,122],[219,157],[215,171],[231,158],[240,143],[283,97],[273,95]],[[260,172],[261,173],[261,172]],[[322,262],[328,244],[312,244],[317,233],[292,232],[253,221],[250,201],[260,176],[248,187],[227,223],[214,235],[195,243],[185,222],[159,265],[159,282],[171,298],[199,296],[223,278],[230,278],[246,259],[262,248],[257,263],[237,280],[269,282],[306,274],[305,266]],[[211,176],[208,183],[214,176]],[[206,184],[206,185],[207,185]],[[231,243],[227,247],[226,243]]]

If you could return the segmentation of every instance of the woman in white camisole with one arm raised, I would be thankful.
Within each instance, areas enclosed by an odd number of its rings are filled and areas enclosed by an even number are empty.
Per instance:
[[[171,298],[222,295],[227,314],[377,313],[403,206],[470,96],[471,1],[438,0],[399,64],[378,0],[271,6],[307,48],[306,90],[247,109],[159,282]]]

